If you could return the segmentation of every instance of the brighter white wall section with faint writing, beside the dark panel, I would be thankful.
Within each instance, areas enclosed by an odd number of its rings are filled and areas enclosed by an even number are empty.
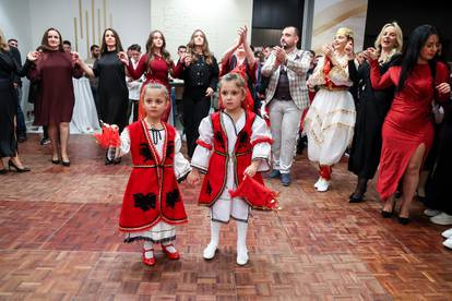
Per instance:
[[[151,0],[151,28],[166,37],[166,48],[177,59],[177,47],[187,45],[194,29],[202,29],[217,60],[248,26],[251,40],[252,0]]]

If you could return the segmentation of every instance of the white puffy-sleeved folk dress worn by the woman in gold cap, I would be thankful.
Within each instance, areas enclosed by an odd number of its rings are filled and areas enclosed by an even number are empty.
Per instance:
[[[347,87],[353,85],[348,75],[347,58],[337,58],[328,77],[340,88],[328,88],[323,74],[324,57],[308,80],[308,85],[320,86],[305,119],[308,136],[308,157],[320,165],[338,162],[352,143],[356,110]]]

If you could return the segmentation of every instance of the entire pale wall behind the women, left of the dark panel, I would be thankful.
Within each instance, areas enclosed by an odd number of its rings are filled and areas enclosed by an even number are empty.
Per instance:
[[[82,0],[83,38],[80,28],[79,0],[0,0],[0,27],[7,37],[20,41],[22,53],[40,44],[44,32],[56,27],[63,39],[75,48],[74,17],[78,19],[78,51],[87,55],[93,44],[92,1],[95,7],[95,43],[97,9],[100,9],[100,34],[104,32],[104,0]],[[144,49],[152,29],[160,29],[167,49],[176,58],[177,47],[186,45],[194,29],[206,33],[211,50],[217,59],[233,44],[237,28],[248,25],[251,39],[252,0],[105,0],[106,25],[118,31],[122,46],[139,44]],[[86,41],[85,11],[88,13],[90,40]],[[111,23],[110,24],[110,14]]]

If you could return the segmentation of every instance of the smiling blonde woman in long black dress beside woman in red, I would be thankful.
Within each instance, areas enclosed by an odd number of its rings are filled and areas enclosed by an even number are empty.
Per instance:
[[[376,39],[376,48],[380,50],[380,73],[383,74],[393,64],[402,50],[403,35],[397,23],[383,26]],[[356,190],[349,196],[350,203],[364,200],[367,182],[376,174],[380,162],[381,127],[394,96],[394,89],[374,91],[370,83],[370,65],[365,62],[356,70],[355,62],[348,63],[352,81],[362,81],[364,91],[359,94],[356,108],[355,134],[352,142],[348,170],[358,176]],[[359,85],[362,86],[362,85]]]

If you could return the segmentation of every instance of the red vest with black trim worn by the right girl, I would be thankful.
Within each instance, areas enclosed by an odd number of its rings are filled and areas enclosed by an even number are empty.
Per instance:
[[[255,113],[246,111],[246,122],[243,129],[238,133],[234,153],[228,154],[228,137],[223,125],[221,112],[211,115],[212,128],[214,133],[213,153],[209,161],[207,173],[202,183],[199,204],[212,206],[226,186],[227,165],[231,159],[235,165],[234,178],[238,186],[243,179],[245,169],[250,166],[252,160],[251,134],[252,123]],[[231,162],[229,162],[231,164]],[[257,172],[253,177],[260,183],[263,183],[262,174]]]

